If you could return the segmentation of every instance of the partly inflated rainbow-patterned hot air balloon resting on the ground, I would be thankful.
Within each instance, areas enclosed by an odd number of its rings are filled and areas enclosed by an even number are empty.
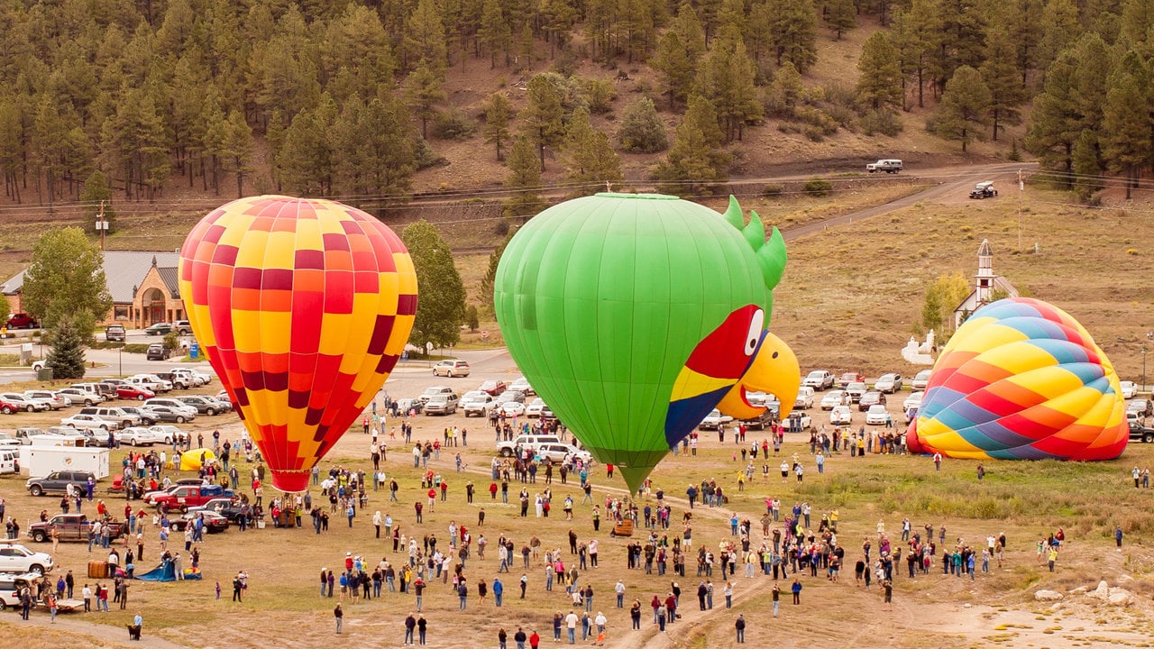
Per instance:
[[[1041,300],[977,309],[950,338],[907,443],[950,457],[1112,460],[1129,440],[1118,376],[1089,333]]]

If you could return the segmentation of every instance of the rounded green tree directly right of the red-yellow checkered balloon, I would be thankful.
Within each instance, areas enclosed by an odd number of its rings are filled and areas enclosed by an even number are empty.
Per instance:
[[[425,343],[439,348],[457,344],[465,320],[465,285],[452,261],[452,248],[425,219],[405,226],[400,240],[413,259],[417,284],[421,288],[409,342],[420,348]]]

